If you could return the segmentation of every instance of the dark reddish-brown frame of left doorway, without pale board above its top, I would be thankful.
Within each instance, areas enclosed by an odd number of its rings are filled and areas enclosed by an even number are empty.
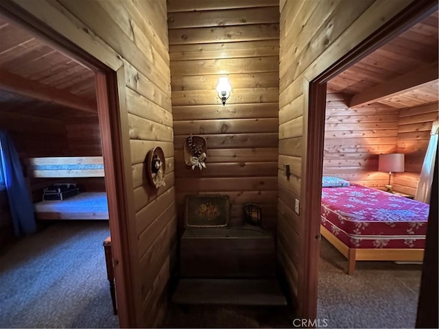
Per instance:
[[[97,112],[104,156],[119,323],[122,327],[133,326],[135,323],[134,300],[132,294],[128,293],[128,291],[132,291],[132,269],[129,261],[130,227],[128,225],[128,218],[132,216],[130,214],[132,207],[130,207],[130,200],[127,197],[129,186],[126,184],[131,167],[130,156],[123,153],[129,150],[127,147],[129,141],[127,139],[125,95],[124,89],[120,88],[121,84],[124,83],[123,66],[112,65],[111,61],[106,61],[107,64],[104,64],[102,57],[107,55],[105,50],[100,53],[96,53],[96,51],[93,54],[86,53],[14,3],[3,1],[0,5],[0,12],[8,20],[20,25],[32,34],[36,34],[57,51],[80,62],[82,66],[95,73]]]

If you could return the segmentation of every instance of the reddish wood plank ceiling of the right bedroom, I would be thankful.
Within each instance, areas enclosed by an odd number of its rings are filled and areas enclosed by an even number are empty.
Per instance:
[[[420,76],[421,71],[426,71],[425,83],[371,101],[394,108],[408,108],[437,101],[438,12],[331,79],[328,90],[330,93],[345,93],[350,97],[366,93],[374,87],[383,92],[392,91],[391,84],[401,83],[403,78],[413,81]],[[436,79],[429,79],[431,73],[436,75]]]

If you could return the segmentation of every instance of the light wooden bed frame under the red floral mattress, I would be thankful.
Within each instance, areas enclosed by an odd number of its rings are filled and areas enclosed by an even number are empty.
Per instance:
[[[348,259],[348,275],[354,273],[357,260],[422,262],[424,258],[424,249],[350,248],[322,225],[320,234]]]

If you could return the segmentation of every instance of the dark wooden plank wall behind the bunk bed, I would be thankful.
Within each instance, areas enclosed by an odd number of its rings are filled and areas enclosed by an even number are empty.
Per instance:
[[[40,110],[44,111],[43,108]],[[0,112],[0,127],[10,132],[23,164],[26,158],[102,156],[97,117],[58,120],[15,113],[11,110]],[[29,175],[32,200],[41,201],[43,188],[46,186],[66,181],[64,178],[33,178]],[[104,178],[71,178],[68,181],[78,184],[80,191],[105,191]]]

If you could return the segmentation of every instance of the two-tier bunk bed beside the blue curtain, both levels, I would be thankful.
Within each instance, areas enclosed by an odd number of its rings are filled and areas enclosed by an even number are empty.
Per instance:
[[[33,178],[104,177],[102,156],[27,159],[27,174]],[[108,219],[105,192],[79,193],[62,201],[34,204],[36,219]]]

